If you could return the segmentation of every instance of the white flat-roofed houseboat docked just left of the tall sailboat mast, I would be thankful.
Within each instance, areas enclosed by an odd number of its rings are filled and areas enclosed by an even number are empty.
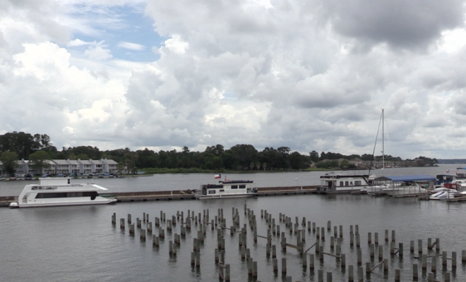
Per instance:
[[[325,173],[321,176],[321,185],[318,191],[337,191],[337,190],[363,190],[369,185],[374,184],[376,176],[373,174],[343,174],[343,173]]]

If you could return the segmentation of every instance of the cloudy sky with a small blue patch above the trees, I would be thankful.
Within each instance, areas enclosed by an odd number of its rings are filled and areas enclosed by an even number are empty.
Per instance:
[[[393,157],[466,158],[465,7],[0,0],[0,134],[347,155],[380,155],[383,139]]]

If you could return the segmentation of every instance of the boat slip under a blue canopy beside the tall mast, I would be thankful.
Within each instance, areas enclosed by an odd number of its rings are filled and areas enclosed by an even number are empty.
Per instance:
[[[434,189],[436,178],[429,175],[381,176],[376,178],[376,185],[386,186],[382,193],[393,197],[417,197],[426,195]],[[370,188],[368,188],[370,189]]]

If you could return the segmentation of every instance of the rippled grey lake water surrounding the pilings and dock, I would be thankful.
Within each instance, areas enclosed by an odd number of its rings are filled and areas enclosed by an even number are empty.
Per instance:
[[[446,169],[455,171],[454,165],[439,168],[392,168],[374,171],[377,176],[400,174],[436,174],[445,173]],[[397,173],[398,172],[398,173]],[[257,187],[317,185],[322,173],[253,173],[227,176],[231,179],[254,180]],[[294,180],[298,178],[298,180]],[[143,191],[195,189],[203,183],[214,183],[213,175],[157,175],[143,178],[95,179],[110,190]],[[20,183],[20,185],[18,184]],[[1,182],[1,195],[18,195],[25,181]],[[193,250],[193,238],[197,238],[198,226],[192,225],[190,233],[181,239],[176,257],[170,257],[169,240],[174,240],[174,233],[179,232],[179,224],[172,234],[166,233],[165,240],[159,248],[152,246],[148,236],[141,242],[136,236],[130,236],[128,228],[121,231],[119,219],[126,219],[132,214],[142,218],[143,212],[150,214],[151,221],[165,212],[167,219],[177,211],[188,209],[196,212],[210,211],[214,219],[218,209],[224,210],[227,227],[232,225],[232,207],[239,210],[241,226],[247,223],[244,216],[244,199],[222,200],[180,200],[160,202],[128,202],[102,206],[50,207],[32,209],[0,209],[0,281],[218,281],[217,266],[214,262],[214,250],[217,247],[217,232],[208,227],[205,243],[201,247],[201,268],[192,268],[190,264]],[[344,238],[342,253],[346,255],[347,266],[344,271],[337,265],[335,258],[325,256],[324,262],[315,261],[316,269],[311,272],[302,269],[301,259],[296,250],[288,248],[280,251],[280,238],[273,237],[277,245],[279,271],[274,274],[272,259],[265,255],[266,240],[259,239],[253,243],[248,224],[248,247],[251,257],[258,262],[259,281],[286,281],[281,274],[281,259],[287,258],[287,274],[292,281],[317,281],[317,270],[333,272],[333,281],[347,281],[349,265],[355,266],[357,278],[357,247],[349,245],[349,226],[359,225],[361,234],[363,266],[371,262],[367,247],[367,233],[378,232],[383,245],[384,258],[390,262],[387,275],[381,269],[374,270],[370,279],[364,274],[364,281],[393,281],[394,269],[400,269],[402,281],[412,281],[412,264],[420,261],[417,256],[417,240],[424,242],[424,254],[436,254],[435,250],[427,252],[427,238],[440,238],[441,251],[458,252],[458,267],[452,272],[448,262],[451,281],[466,281],[466,266],[461,263],[461,250],[466,250],[466,203],[448,204],[446,202],[419,201],[417,198],[393,199],[390,197],[371,197],[370,195],[299,195],[273,196],[247,199],[246,204],[257,216],[258,234],[266,235],[266,223],[260,218],[261,209],[266,209],[278,223],[279,213],[292,218],[303,216],[306,221],[316,222],[316,226],[326,227],[342,225]],[[111,217],[117,213],[117,226],[112,226]],[[301,226],[300,226],[301,227]],[[144,228],[144,226],[143,226]],[[162,224],[165,228],[165,224]],[[287,243],[295,243],[296,235],[290,235],[283,223],[281,231],[286,231]],[[326,228],[325,228],[326,229]],[[156,229],[155,229],[156,230]],[[389,244],[383,241],[385,230],[396,231],[398,243],[404,244],[404,257],[390,256]],[[325,231],[326,232],[326,231]],[[154,232],[156,233],[156,232]],[[157,233],[158,234],[158,233]],[[325,252],[330,250],[330,235],[326,233]],[[390,236],[391,238],[391,236]],[[374,240],[374,235],[373,235]],[[415,253],[410,253],[410,241],[415,240]],[[316,235],[306,231],[305,249],[316,242]],[[225,233],[225,260],[231,264],[232,281],[253,281],[247,274],[246,261],[241,260],[238,247],[238,235],[233,237]],[[311,249],[309,253],[314,253]],[[376,252],[377,254],[377,252]],[[377,255],[373,262],[378,262]],[[309,265],[309,262],[308,262]],[[430,272],[430,260],[428,264]],[[436,279],[443,281],[441,258],[437,259]],[[419,271],[419,281],[426,281],[426,273]],[[325,281],[325,278],[324,278]]]

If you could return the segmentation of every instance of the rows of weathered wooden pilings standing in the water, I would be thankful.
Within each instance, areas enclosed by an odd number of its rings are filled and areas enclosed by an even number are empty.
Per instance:
[[[160,217],[155,217],[154,226],[158,228],[158,235],[153,233],[153,223],[149,219],[148,213],[143,213],[142,219],[136,219],[136,227],[139,231],[141,240],[146,240],[146,234],[152,235],[153,246],[159,247],[160,240],[165,238],[165,230],[162,228],[162,224],[165,224],[167,232],[172,233],[173,228],[176,228],[177,224],[180,225],[180,234],[174,233],[174,240],[169,240],[169,255],[176,256],[177,248],[181,245],[181,238],[186,238],[186,231],[191,232],[191,224],[194,224],[197,228],[198,233],[197,238],[193,238],[193,252],[191,252],[191,265],[199,268],[201,266],[201,247],[203,246],[205,240],[205,234],[208,229],[208,225],[212,231],[217,230],[217,248],[215,248],[215,264],[219,272],[220,281],[230,281],[230,264],[225,262],[225,231],[229,230],[230,235],[234,236],[238,234],[238,243],[239,250],[241,254],[241,259],[246,260],[248,274],[252,278],[256,279],[258,277],[258,263],[251,257],[251,251],[247,247],[247,236],[246,229],[247,224],[244,223],[244,226],[240,226],[239,212],[238,209],[232,208],[232,226],[227,228],[227,221],[223,214],[223,209],[217,210],[217,216],[215,219],[210,220],[209,210],[203,210],[203,214],[188,210],[186,219],[184,218],[184,212],[177,212],[176,216],[173,215],[172,219],[166,219],[165,213],[160,212]],[[325,252],[324,242],[325,234],[331,235],[332,224],[331,221],[327,222],[327,227],[325,232],[325,227],[316,226],[316,222],[306,221],[306,218],[303,217],[301,221],[301,229],[299,226],[299,218],[295,217],[295,222],[292,223],[292,219],[285,214],[280,213],[278,216],[278,222],[275,222],[275,219],[272,217],[272,214],[269,214],[267,210],[261,210],[261,219],[265,220],[267,224],[267,235],[258,235],[258,221],[256,215],[251,209],[246,207],[244,204],[244,215],[247,216],[247,221],[249,227],[252,231],[252,237],[255,244],[258,244],[258,238],[266,239],[265,243],[265,255],[267,257],[272,257],[273,261],[273,271],[278,272],[278,260],[277,260],[277,246],[273,244],[273,238],[280,236],[280,247],[282,253],[287,252],[287,248],[291,247],[292,249],[297,250],[301,255],[301,264],[304,269],[309,269],[311,273],[314,273],[315,261],[318,259],[321,264],[324,262],[324,256],[334,257],[335,262],[340,265],[342,271],[345,271],[347,262],[346,256],[342,253],[342,240],[343,240],[343,226],[333,226],[333,236],[330,236],[330,252]],[[135,234],[135,226],[131,219],[131,214],[128,214],[127,219],[120,219],[120,228],[124,230],[126,228],[126,221],[129,226],[129,234]],[[115,226],[117,223],[117,214],[112,215],[112,224]],[[142,228],[145,223],[146,229]],[[280,223],[285,224],[284,231],[280,232]],[[307,224],[306,224],[307,223]],[[304,245],[306,243],[306,228],[308,233],[315,235],[316,242],[313,243],[310,247],[304,250]],[[288,230],[287,230],[288,229]],[[287,237],[285,232],[289,234],[296,235],[296,244],[287,243]],[[372,235],[374,234],[374,242],[372,240]],[[391,239],[389,236],[389,231],[385,231],[385,243],[390,243],[390,256],[398,255],[398,257],[403,257],[403,243],[398,243],[396,247],[395,240],[395,231],[391,231]],[[276,239],[275,239],[276,240]],[[383,268],[383,275],[388,276],[389,271],[389,260],[383,256],[383,245],[379,244],[378,233],[368,233],[367,243],[369,245],[369,256],[371,257],[371,262],[366,262],[365,264],[365,274],[366,277],[370,277],[370,274],[378,269],[379,267]],[[322,245],[321,245],[322,244]],[[361,249],[361,236],[359,233],[359,226],[349,226],[349,246],[351,248],[356,245],[357,247],[357,262],[355,265],[350,264],[347,268],[347,281],[364,281],[364,267],[362,265],[362,249]],[[314,247],[314,253],[308,253],[311,248]],[[447,270],[448,261],[451,262],[451,270],[455,271],[457,266],[457,253],[451,252],[451,256],[447,256],[447,252],[440,252],[440,239],[436,238],[433,242],[432,238],[427,240],[427,250],[436,250],[436,254],[428,255],[423,253],[423,243],[419,239],[417,241],[417,257],[414,256],[415,244],[414,240],[410,241],[410,253],[413,259],[419,259],[422,267],[422,275],[427,276],[428,281],[436,281],[436,271],[437,271],[437,257],[442,257],[444,281],[450,281],[450,272]],[[378,262],[374,262],[374,257],[376,257],[376,250]],[[286,255],[285,255],[286,256]],[[309,261],[308,261],[309,258]],[[430,259],[430,271],[426,273],[428,269],[428,260]],[[466,250],[462,251],[461,260],[463,263],[466,262]],[[355,270],[357,271],[357,278],[354,276]],[[282,257],[281,259],[281,272],[282,274],[287,274],[287,257]],[[323,269],[317,270],[317,281],[323,282]],[[292,281],[291,276],[286,276],[287,281]],[[333,274],[332,272],[326,273],[327,281],[332,281]],[[417,280],[419,278],[419,264],[412,264],[412,278]],[[394,281],[401,281],[400,269],[395,269],[394,271]]]

